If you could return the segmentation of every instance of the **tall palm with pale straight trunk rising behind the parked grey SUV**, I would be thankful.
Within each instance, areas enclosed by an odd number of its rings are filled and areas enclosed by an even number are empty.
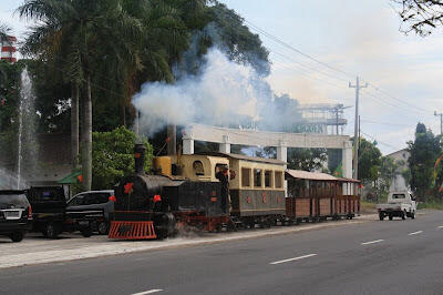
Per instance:
[[[92,184],[91,80],[103,63],[136,60],[135,43],[142,35],[140,21],[122,3],[123,0],[27,0],[18,9],[20,17],[39,21],[28,35],[24,50],[43,60],[61,61],[73,92],[81,89],[83,190],[91,190]],[[107,52],[106,59],[103,51]]]

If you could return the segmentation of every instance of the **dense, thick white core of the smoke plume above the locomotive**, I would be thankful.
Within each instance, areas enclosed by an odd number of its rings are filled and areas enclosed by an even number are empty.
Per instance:
[[[133,104],[142,113],[142,130],[153,133],[166,123],[238,125],[245,115],[257,120],[260,103],[271,99],[268,84],[251,67],[213,48],[197,75],[184,75],[174,84],[145,83]]]

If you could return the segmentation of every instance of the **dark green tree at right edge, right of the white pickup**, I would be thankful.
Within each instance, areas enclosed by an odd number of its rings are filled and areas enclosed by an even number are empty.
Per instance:
[[[425,200],[434,184],[434,163],[441,154],[440,136],[434,136],[423,123],[418,123],[415,140],[408,142],[411,156],[408,160],[411,170],[411,189],[416,195]]]

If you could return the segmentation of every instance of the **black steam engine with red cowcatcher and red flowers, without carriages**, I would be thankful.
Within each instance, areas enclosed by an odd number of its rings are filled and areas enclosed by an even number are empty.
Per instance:
[[[178,163],[156,166],[154,175],[147,175],[143,144],[135,145],[134,157],[135,174],[115,189],[110,238],[164,238],[184,224],[210,231],[228,221],[228,194],[222,182],[184,177],[176,173],[181,170]],[[171,167],[175,175],[165,173]]]

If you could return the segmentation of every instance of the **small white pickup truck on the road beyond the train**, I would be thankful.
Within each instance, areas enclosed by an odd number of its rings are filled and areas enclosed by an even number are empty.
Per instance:
[[[387,204],[377,204],[380,221],[384,220],[385,216],[392,221],[393,217],[406,217],[415,218],[416,203],[415,199],[409,191],[396,191],[391,192],[388,195]]]

